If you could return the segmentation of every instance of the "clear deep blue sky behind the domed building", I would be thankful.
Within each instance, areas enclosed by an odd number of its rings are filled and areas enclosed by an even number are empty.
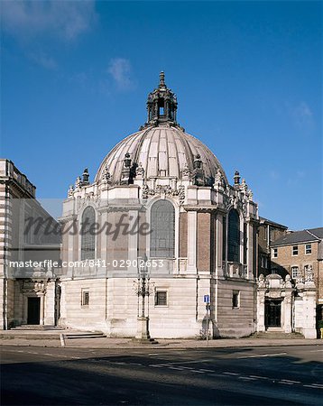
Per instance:
[[[39,198],[93,180],[163,69],[261,216],[322,226],[322,3],[3,1],[1,27],[1,156]]]

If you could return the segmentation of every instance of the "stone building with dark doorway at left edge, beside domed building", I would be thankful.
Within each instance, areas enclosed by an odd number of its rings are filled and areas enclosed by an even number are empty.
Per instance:
[[[12,161],[0,159],[1,329],[58,321],[57,281],[49,260],[59,265],[60,235],[44,234],[45,225],[28,226],[29,219],[37,218],[58,225],[36,200],[35,191]]]

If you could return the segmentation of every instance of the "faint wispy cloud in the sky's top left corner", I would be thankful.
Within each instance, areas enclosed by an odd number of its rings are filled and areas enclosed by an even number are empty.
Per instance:
[[[5,32],[20,39],[49,33],[72,41],[96,20],[94,0],[3,0],[1,20]]]

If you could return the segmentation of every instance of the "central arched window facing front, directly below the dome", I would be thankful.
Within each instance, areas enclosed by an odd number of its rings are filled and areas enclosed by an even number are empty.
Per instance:
[[[151,256],[174,257],[175,209],[170,201],[158,200],[152,205]]]

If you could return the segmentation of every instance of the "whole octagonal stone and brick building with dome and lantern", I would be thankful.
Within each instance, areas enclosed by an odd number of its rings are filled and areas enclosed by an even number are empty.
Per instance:
[[[239,173],[230,185],[178,124],[177,109],[162,72],[147,122],[106,155],[93,183],[85,170],[69,188],[60,325],[134,337],[149,316],[152,337],[255,331],[257,205]]]

